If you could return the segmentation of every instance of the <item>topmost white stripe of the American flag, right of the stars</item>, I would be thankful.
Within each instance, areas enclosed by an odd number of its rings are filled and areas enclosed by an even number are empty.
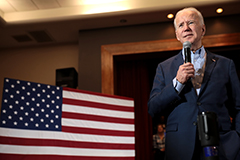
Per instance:
[[[79,92],[71,92],[71,91],[63,90],[63,97],[70,98],[70,99],[76,99],[76,100],[104,103],[104,104],[120,105],[120,106],[125,106],[125,107],[134,107],[133,100],[104,97],[104,96],[92,95],[92,94],[87,94],[87,93],[79,93]]]

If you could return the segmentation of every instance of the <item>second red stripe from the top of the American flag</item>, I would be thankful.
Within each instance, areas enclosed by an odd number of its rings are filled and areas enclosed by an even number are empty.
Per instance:
[[[125,107],[125,106],[119,106],[119,105],[111,105],[111,104],[69,99],[64,97],[63,97],[63,104],[86,106],[86,107],[100,108],[100,109],[109,109],[109,110],[116,110],[116,111],[134,112],[134,107]]]

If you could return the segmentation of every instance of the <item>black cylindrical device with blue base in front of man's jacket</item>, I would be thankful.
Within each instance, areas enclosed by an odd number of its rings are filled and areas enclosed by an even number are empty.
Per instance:
[[[202,112],[197,117],[199,140],[205,160],[219,160],[219,132],[217,115],[214,112]]]

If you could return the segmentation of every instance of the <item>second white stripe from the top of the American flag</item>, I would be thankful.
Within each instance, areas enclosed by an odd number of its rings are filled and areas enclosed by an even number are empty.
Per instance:
[[[83,114],[89,114],[89,115],[106,116],[106,117],[134,119],[134,112],[113,111],[113,110],[108,110],[108,109],[98,109],[98,108],[75,106],[75,105],[68,105],[68,104],[63,104],[62,111],[72,112],[72,113],[83,113]]]

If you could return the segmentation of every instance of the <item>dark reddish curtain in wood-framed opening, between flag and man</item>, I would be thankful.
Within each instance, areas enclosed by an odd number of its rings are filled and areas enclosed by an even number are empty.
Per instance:
[[[148,114],[147,102],[153,76],[149,73],[149,62],[115,59],[114,64],[115,95],[131,97],[135,102],[136,160],[151,160],[152,118]]]

